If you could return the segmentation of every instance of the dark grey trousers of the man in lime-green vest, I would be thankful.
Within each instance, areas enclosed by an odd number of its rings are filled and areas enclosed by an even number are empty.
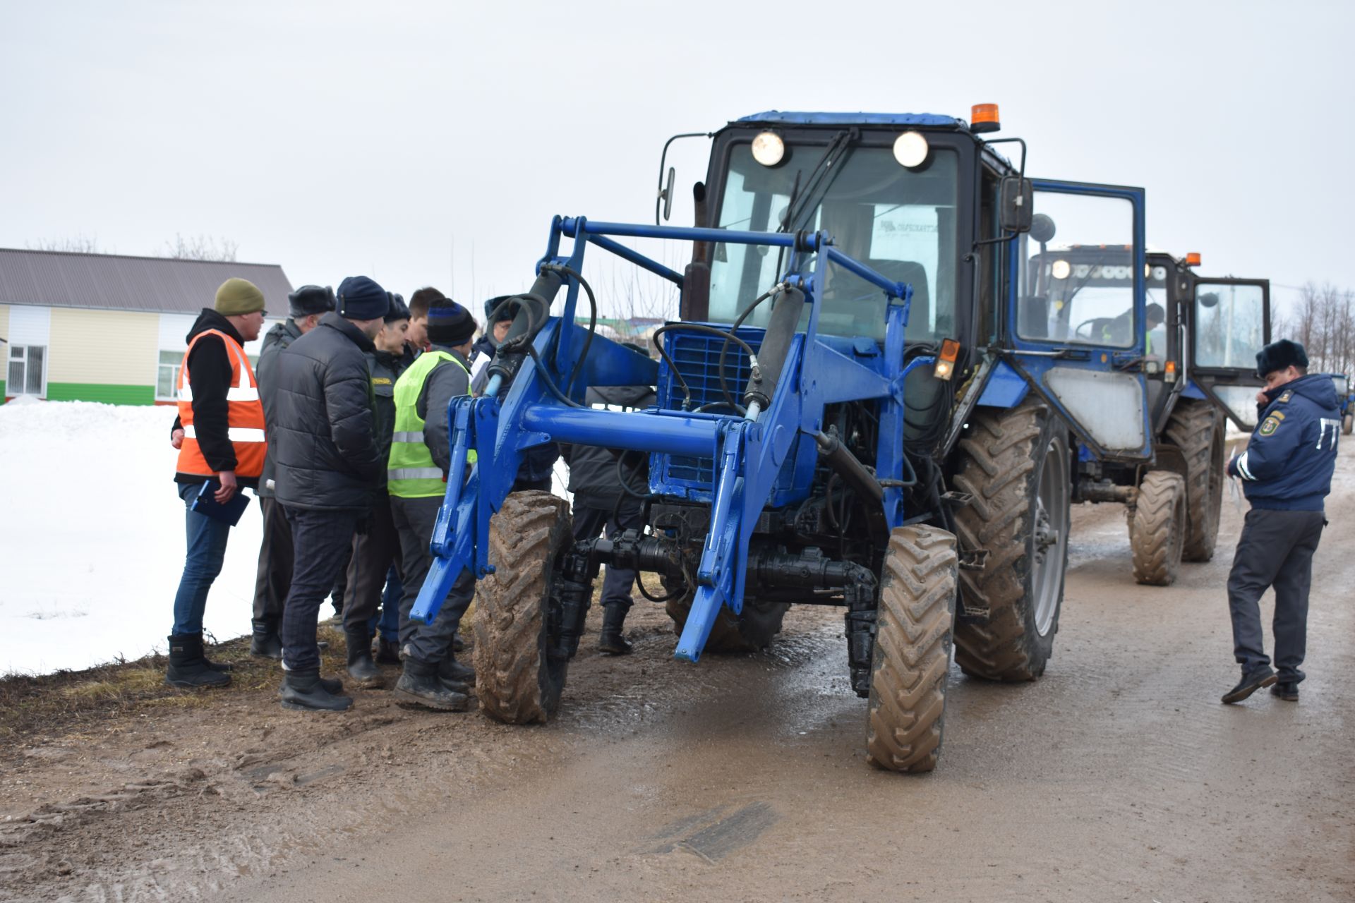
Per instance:
[[[400,647],[405,655],[420,662],[440,662],[451,654],[451,638],[461,627],[461,617],[470,608],[470,601],[476,597],[476,578],[469,570],[461,571],[461,577],[447,592],[447,598],[442,604],[438,616],[431,624],[423,624],[409,617],[415,600],[423,588],[424,578],[432,567],[432,552],[428,551],[428,542],[432,539],[434,521],[438,520],[438,509],[442,506],[442,495],[432,498],[400,498],[392,495],[390,513],[400,533],[400,552],[404,559],[405,593],[400,600]]]

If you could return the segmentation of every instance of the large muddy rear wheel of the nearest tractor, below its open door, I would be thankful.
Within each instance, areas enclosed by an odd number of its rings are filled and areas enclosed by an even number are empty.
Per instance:
[[[966,615],[955,625],[955,661],[972,677],[1033,681],[1045,673],[1064,604],[1068,429],[1027,399],[973,414],[959,448],[955,489],[973,500],[955,513],[955,531],[963,548],[988,556],[959,573]]]

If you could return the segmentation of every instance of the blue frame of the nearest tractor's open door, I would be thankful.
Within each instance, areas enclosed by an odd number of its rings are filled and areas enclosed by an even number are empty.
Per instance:
[[[1146,286],[1144,282],[1144,268],[1148,264],[1148,253],[1145,246],[1145,214],[1144,214],[1144,190],[1142,188],[1127,188],[1121,185],[1096,185],[1085,184],[1077,181],[1053,181],[1046,179],[1033,179],[1031,185],[1035,191],[1070,194],[1070,195],[1089,195],[1099,198],[1121,198],[1130,202],[1134,211],[1134,250],[1133,250],[1133,271],[1134,271],[1134,288],[1133,288],[1133,305],[1134,305],[1134,344],[1130,348],[1115,348],[1111,345],[1092,345],[1084,343],[1061,343],[1043,338],[1023,338],[1018,330],[1018,302],[1020,298],[1020,253],[1019,253],[1019,238],[1014,237],[1011,240],[1011,253],[1007,256],[1008,264],[1008,298],[1007,298],[1007,337],[1014,349],[1014,353],[1008,359],[1012,368],[1019,372],[1027,382],[1027,384],[1034,389],[1039,397],[1049,403],[1051,408],[1060,412],[1064,420],[1072,426],[1077,439],[1089,449],[1092,449],[1096,458],[1106,460],[1122,460],[1122,462],[1141,462],[1148,460],[1153,455],[1153,429],[1149,422],[1150,413],[1148,410],[1148,383],[1142,372],[1135,374],[1141,394],[1145,399],[1144,403],[1144,441],[1140,448],[1104,448],[1083,424],[1062,405],[1058,398],[1046,387],[1045,376],[1054,367],[1072,367],[1077,370],[1093,370],[1102,372],[1110,372],[1121,366],[1131,361],[1135,357],[1142,357],[1146,343]],[[1009,395],[1009,393],[1007,393]],[[992,398],[996,398],[993,395]],[[980,399],[980,403],[993,403],[985,391],[985,397]]]

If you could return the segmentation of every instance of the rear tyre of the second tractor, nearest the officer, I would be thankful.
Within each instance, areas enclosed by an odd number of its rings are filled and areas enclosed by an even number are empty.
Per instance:
[[[1183,398],[1167,421],[1167,441],[1186,458],[1186,542],[1182,558],[1207,562],[1218,542],[1224,504],[1224,413],[1207,401]],[[1142,582],[1142,581],[1141,581]]]

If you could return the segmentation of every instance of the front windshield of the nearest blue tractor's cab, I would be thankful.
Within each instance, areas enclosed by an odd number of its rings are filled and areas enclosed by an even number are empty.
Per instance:
[[[908,341],[935,341],[955,330],[958,160],[932,148],[920,169],[901,167],[889,148],[851,148],[822,173],[828,145],[787,145],[775,168],[756,162],[748,142],[729,149],[721,192],[721,229],[822,230],[839,250],[889,279],[911,283]],[[795,222],[787,222],[795,210]],[[717,244],[710,275],[710,318],[730,322],[785,271],[778,249]],[[835,336],[885,337],[888,299],[875,286],[828,268],[818,328]],[[749,318],[763,325],[771,307]],[[806,311],[808,320],[808,311]]]

